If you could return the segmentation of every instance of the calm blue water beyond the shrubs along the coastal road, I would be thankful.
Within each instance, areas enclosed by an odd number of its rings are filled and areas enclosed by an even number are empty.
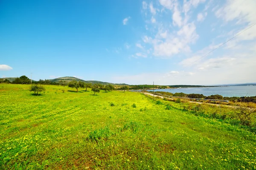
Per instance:
[[[153,91],[153,90],[150,90]],[[203,94],[210,96],[219,94],[224,97],[242,97],[256,96],[256,85],[248,86],[223,86],[223,87],[207,87],[207,88],[171,88],[171,89],[155,89],[155,91],[166,91],[170,93],[185,93],[185,94]]]

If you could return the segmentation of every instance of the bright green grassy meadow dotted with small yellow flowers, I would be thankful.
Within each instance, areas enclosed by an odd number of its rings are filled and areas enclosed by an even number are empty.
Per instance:
[[[186,103],[29,87],[0,84],[0,169],[256,169],[254,133]]]

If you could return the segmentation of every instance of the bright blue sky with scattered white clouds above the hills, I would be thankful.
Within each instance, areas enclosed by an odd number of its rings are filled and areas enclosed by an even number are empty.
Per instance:
[[[255,24],[255,7],[255,0],[2,0],[0,77],[256,82],[256,26],[196,61]]]

